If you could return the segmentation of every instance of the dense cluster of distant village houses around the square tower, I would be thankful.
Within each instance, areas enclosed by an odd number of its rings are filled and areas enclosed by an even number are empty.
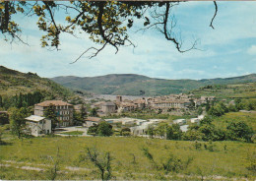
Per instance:
[[[132,111],[136,109],[149,108],[153,110],[161,110],[162,112],[170,111],[188,111],[196,106],[214,101],[215,96],[201,96],[194,98],[193,94],[169,94],[164,96],[140,97],[134,100],[122,99],[121,95],[116,96],[115,101],[99,101],[93,104],[97,107],[99,114],[120,113]]]

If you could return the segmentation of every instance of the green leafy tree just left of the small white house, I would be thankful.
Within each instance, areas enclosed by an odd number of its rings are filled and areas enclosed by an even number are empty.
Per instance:
[[[15,107],[10,108],[8,112],[10,114],[10,127],[12,134],[16,135],[18,139],[21,139],[23,135],[23,128],[26,124],[25,118],[29,116],[28,112],[24,107],[20,109]]]

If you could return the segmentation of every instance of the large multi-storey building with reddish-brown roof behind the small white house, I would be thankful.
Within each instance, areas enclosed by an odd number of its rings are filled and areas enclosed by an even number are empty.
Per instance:
[[[57,119],[58,126],[72,126],[74,107],[72,104],[62,100],[46,100],[34,105],[34,115],[44,116],[46,109],[53,105]]]

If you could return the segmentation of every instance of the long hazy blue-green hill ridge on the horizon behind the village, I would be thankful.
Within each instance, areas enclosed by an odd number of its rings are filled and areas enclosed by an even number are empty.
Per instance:
[[[84,78],[68,76],[55,77],[51,80],[73,90],[90,91],[97,94],[164,95],[192,91],[208,85],[255,83],[256,74],[199,81],[156,79],[135,74],[111,74]]]

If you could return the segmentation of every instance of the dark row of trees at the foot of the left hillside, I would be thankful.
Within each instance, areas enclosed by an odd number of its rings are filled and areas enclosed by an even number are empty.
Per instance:
[[[20,92],[13,96],[0,95],[0,107],[4,110],[7,110],[10,107],[28,107],[35,103],[39,103],[43,98],[44,95],[40,91],[29,92],[26,94]]]

